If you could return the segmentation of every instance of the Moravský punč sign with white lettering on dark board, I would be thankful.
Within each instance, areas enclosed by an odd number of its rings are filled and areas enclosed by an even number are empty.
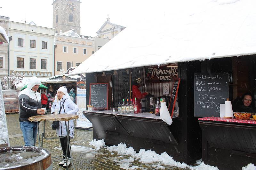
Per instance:
[[[145,83],[173,82],[178,80],[177,66],[145,67]]]

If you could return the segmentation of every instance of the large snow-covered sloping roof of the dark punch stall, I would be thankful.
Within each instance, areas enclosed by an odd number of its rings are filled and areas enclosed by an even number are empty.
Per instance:
[[[125,28],[69,75],[256,53],[255,0],[181,1],[170,2],[173,15]]]

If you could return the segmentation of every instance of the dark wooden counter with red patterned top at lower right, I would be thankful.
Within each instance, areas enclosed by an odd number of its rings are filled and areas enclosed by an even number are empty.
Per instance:
[[[256,165],[256,121],[199,118],[202,129],[202,159],[220,170],[241,170]]]

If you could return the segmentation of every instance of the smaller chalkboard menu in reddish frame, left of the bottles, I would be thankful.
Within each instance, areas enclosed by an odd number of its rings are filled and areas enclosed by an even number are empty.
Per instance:
[[[90,105],[108,108],[108,83],[90,83]]]

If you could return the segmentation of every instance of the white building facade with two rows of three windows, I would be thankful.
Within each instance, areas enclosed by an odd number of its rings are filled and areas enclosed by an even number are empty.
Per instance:
[[[33,22],[10,21],[10,72],[15,70],[25,77],[51,77],[54,73],[54,31]]]

